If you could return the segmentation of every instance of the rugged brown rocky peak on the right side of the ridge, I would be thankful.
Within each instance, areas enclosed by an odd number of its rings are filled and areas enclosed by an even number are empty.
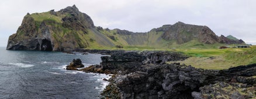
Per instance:
[[[191,40],[198,40],[206,44],[224,43],[224,44],[242,44],[243,40],[231,40],[224,36],[216,36],[207,26],[197,26],[185,24],[182,22],[165,26],[162,38],[165,40],[175,40],[178,44],[187,43]]]

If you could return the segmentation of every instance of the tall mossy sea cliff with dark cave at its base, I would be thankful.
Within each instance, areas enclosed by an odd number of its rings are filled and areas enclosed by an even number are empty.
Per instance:
[[[92,19],[77,7],[68,6],[58,12],[50,10],[43,13],[29,13],[24,17],[16,34],[9,37],[6,49],[71,51],[89,47],[91,32],[101,38],[102,45],[113,45],[105,36],[94,31]],[[95,36],[95,37],[96,37]],[[86,38],[87,37],[87,38]]]

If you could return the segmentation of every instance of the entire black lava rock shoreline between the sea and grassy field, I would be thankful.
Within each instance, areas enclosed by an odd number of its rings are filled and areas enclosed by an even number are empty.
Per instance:
[[[226,70],[203,70],[179,63],[177,52],[112,52],[101,65],[84,72],[115,74],[101,94],[105,98],[255,98],[256,64]]]

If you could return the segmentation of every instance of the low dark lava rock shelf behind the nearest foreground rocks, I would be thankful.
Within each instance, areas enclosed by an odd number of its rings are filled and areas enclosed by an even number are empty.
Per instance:
[[[161,63],[168,61],[180,61],[188,56],[177,52],[166,51],[143,51],[143,52],[120,52],[116,51],[111,56],[102,56],[101,65],[92,65],[88,68],[81,69],[84,72],[94,73],[130,73],[139,70],[141,65],[148,63]]]

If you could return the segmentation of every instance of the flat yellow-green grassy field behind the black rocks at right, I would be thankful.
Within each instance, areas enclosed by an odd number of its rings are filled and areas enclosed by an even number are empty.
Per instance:
[[[179,61],[202,69],[228,69],[256,63],[256,46],[226,49],[179,49],[191,58]]]

